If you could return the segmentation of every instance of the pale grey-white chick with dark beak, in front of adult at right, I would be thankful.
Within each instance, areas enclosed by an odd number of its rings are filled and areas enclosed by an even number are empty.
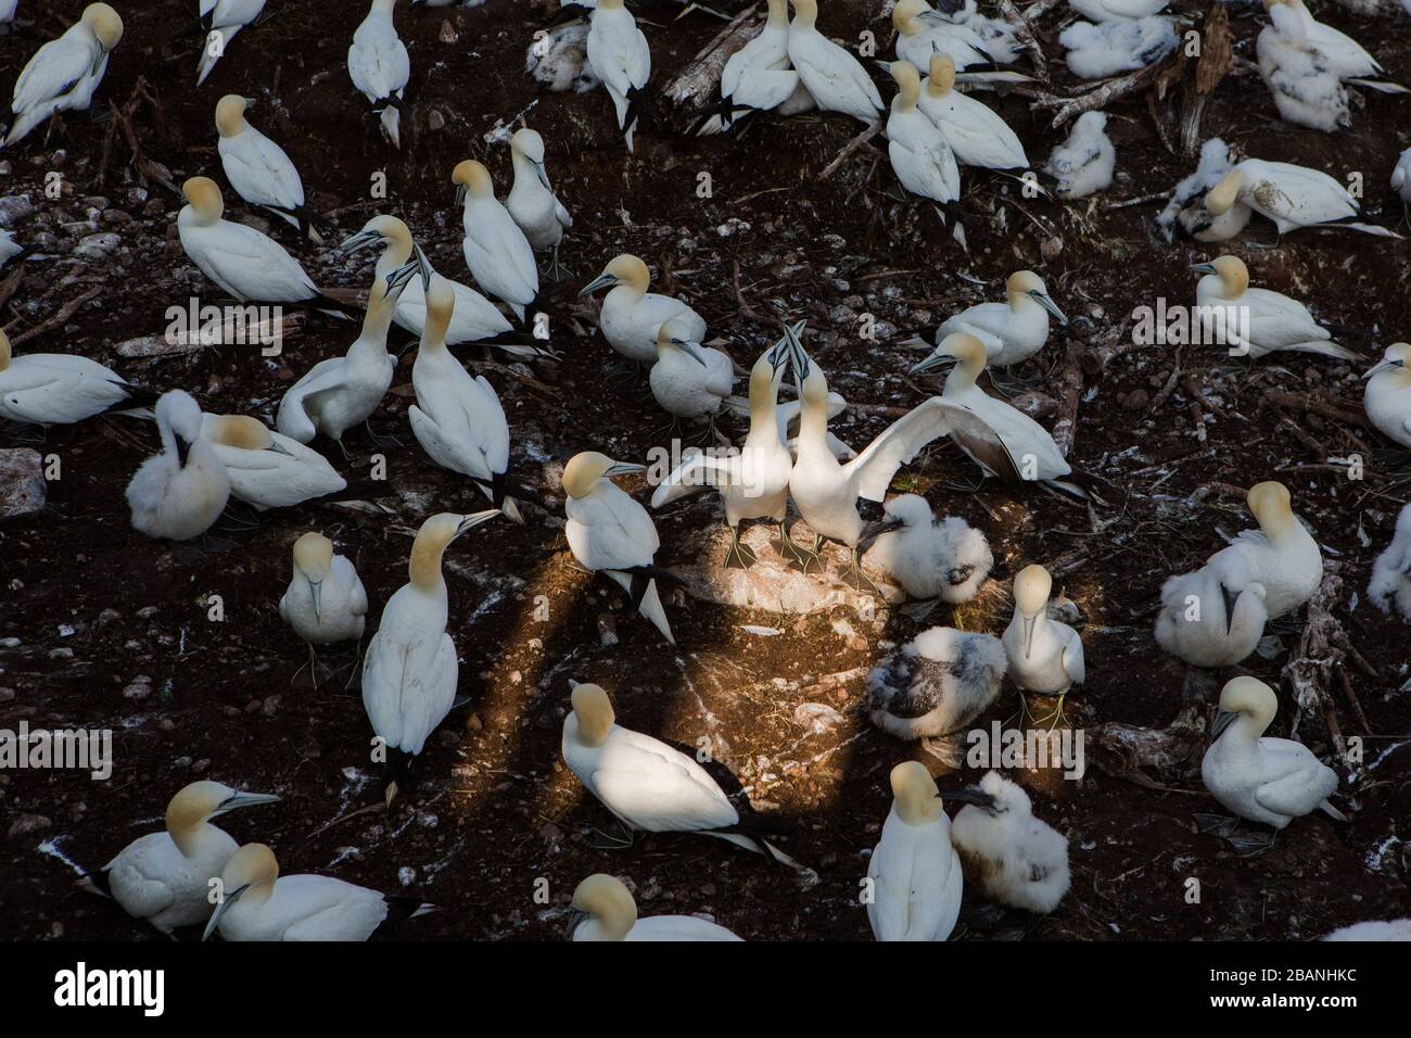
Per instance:
[[[1264,637],[1264,595],[1243,555],[1216,554],[1161,586],[1157,644],[1192,667],[1233,667]]]

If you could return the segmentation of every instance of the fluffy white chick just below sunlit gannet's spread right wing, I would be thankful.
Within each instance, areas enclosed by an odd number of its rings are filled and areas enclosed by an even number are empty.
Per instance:
[[[876,539],[866,551],[868,562],[910,597],[931,606],[975,597],[995,565],[982,532],[958,515],[937,523],[931,506],[920,494],[893,497],[883,511],[886,518],[876,524],[878,532],[869,531]]]

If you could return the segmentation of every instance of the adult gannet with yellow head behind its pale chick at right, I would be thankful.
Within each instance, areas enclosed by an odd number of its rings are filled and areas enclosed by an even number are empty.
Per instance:
[[[1211,563],[1225,554],[1243,555],[1250,578],[1264,585],[1268,619],[1277,620],[1318,590],[1322,551],[1290,507],[1288,487],[1283,483],[1257,483],[1247,500],[1259,530],[1242,530],[1228,548],[1211,556]]]

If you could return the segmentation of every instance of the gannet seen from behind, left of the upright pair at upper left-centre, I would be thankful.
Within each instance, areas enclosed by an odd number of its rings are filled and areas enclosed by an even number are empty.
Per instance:
[[[495,198],[490,169],[473,158],[452,174],[456,203],[463,206],[466,266],[471,277],[494,297],[509,304],[521,321],[525,308],[539,298],[539,268],[529,239],[509,210]]]

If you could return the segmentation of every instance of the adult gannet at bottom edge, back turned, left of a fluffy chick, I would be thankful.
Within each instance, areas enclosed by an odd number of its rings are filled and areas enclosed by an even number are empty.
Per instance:
[[[892,809],[868,859],[868,922],[878,941],[945,941],[965,880],[935,780],[919,761],[892,768]]]

